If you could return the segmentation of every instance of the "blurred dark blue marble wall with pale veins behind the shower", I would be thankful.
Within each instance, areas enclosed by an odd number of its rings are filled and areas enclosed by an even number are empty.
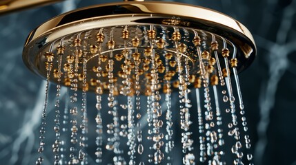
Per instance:
[[[22,61],[29,32],[63,12],[112,1],[67,0],[0,16],[0,164],[34,164],[38,157],[45,83]],[[177,2],[228,14],[253,34],[257,58],[239,78],[254,163],[296,165],[296,1]]]

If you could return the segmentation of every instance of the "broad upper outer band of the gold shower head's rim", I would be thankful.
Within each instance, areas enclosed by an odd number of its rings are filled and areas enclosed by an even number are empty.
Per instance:
[[[30,40],[34,40],[37,37],[45,34],[46,32],[52,31],[55,28],[61,28],[63,26],[68,26],[75,22],[88,21],[90,19],[99,19],[99,17],[110,17],[110,13],[99,12],[99,9],[105,8],[107,6],[113,6],[115,8],[121,9],[125,8],[126,11],[129,11],[131,14],[164,14],[168,16],[175,16],[186,19],[195,19],[195,21],[200,21],[201,23],[210,23],[210,24],[219,24],[221,27],[227,27],[232,29],[234,32],[238,32],[241,35],[248,38],[253,45],[255,45],[255,41],[253,39],[252,34],[250,34],[249,30],[236,21],[235,19],[228,17],[225,14],[217,12],[215,10],[210,10],[208,8],[202,8],[195,5],[187,5],[184,3],[166,3],[166,2],[151,2],[151,1],[127,1],[121,3],[106,3],[103,5],[92,5],[87,8],[81,8],[77,10],[72,10],[71,12],[66,12],[65,14],[61,14],[58,17],[51,19],[50,21],[43,23],[36,30],[34,30],[34,35]],[[83,15],[83,11],[87,10],[98,10],[98,13],[91,13]],[[109,11],[110,12],[110,11]],[[115,14],[115,17],[121,15],[123,13]],[[89,17],[91,15],[91,17]],[[69,19],[68,17],[71,17]],[[180,25],[180,24],[179,24]],[[187,25],[190,28],[190,25]],[[219,28],[219,27],[215,27]],[[83,30],[89,30],[90,28],[86,28]],[[72,32],[72,31],[71,31]],[[29,43],[30,41],[27,41]]]

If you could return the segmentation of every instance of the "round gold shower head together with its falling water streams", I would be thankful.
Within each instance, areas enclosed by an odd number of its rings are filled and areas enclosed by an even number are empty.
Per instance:
[[[108,162],[102,158],[104,148],[114,154],[114,164],[172,164],[178,161],[171,157],[177,142],[173,130],[178,124],[183,164],[223,164],[228,152],[235,155],[233,164],[241,164],[244,154],[252,164],[252,154],[243,153],[243,144],[249,149],[250,139],[237,74],[253,62],[255,54],[253,36],[244,25],[195,5],[125,1],[61,14],[33,30],[23,49],[23,61],[47,81],[38,151],[43,153],[48,147],[44,133],[48,87],[53,82],[57,84],[56,140],[52,145],[55,164],[87,164],[92,155],[88,145],[92,144],[97,145],[95,162],[99,164]],[[59,108],[61,85],[69,90],[69,111]],[[199,94],[201,89],[204,97]],[[87,113],[87,91],[95,91],[97,103],[88,106],[88,111],[97,109],[96,116]],[[171,101],[176,93],[178,108],[172,107],[175,102]],[[228,108],[222,109],[221,104]],[[197,116],[192,115],[196,109]],[[106,111],[112,122],[103,115]],[[223,121],[222,113],[233,121]],[[180,118],[179,122],[172,116]],[[195,118],[199,131],[190,127]],[[95,120],[97,129],[88,129],[90,119]],[[147,120],[146,125],[142,119]],[[68,120],[69,124],[60,124]],[[224,124],[228,124],[228,131],[222,129]],[[67,129],[71,137],[62,139],[62,130]],[[96,142],[88,142],[90,131],[97,133]],[[199,138],[193,139],[194,134]],[[226,134],[235,141],[231,151],[222,147]],[[108,138],[103,140],[103,136]],[[128,142],[128,153],[122,140]],[[36,163],[42,162],[41,156]]]

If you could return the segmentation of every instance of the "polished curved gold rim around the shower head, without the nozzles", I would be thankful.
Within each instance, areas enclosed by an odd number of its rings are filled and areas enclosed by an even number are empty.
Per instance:
[[[28,36],[23,61],[33,72],[44,77],[41,53],[50,43],[79,32],[123,25],[165,25],[221,36],[237,47],[241,63],[237,68],[239,72],[253,62],[256,54],[255,42],[248,29],[225,14],[184,3],[126,1],[73,10],[43,23]]]

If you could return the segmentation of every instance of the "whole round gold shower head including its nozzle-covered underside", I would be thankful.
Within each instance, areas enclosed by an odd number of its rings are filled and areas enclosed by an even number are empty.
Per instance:
[[[215,57],[213,52],[219,56]],[[61,85],[69,86],[71,77],[75,76],[70,70],[77,69],[81,73],[77,75],[78,89],[83,88],[82,65],[87,61],[84,88],[95,91],[99,74],[103,91],[108,91],[108,61],[112,59],[115,67],[111,81],[118,93],[124,87],[121,82],[125,76],[131,75],[130,81],[135,83],[137,74],[141,94],[147,94],[150,90],[147,82],[153,79],[151,71],[157,71],[157,89],[164,89],[166,81],[177,89],[178,72],[181,69],[185,73],[188,66],[188,86],[198,87],[201,61],[204,74],[209,76],[218,72],[217,66],[211,63],[224,61],[225,57],[241,72],[253,62],[255,54],[250,32],[224,14],[182,3],[133,1],[94,5],[43,23],[28,36],[23,61],[34,73],[46,77],[47,62],[52,60],[50,65],[56,69],[50,72],[50,80],[57,83],[57,56],[60,56]],[[77,66],[72,65],[76,60]],[[216,79],[213,78],[214,83]]]

